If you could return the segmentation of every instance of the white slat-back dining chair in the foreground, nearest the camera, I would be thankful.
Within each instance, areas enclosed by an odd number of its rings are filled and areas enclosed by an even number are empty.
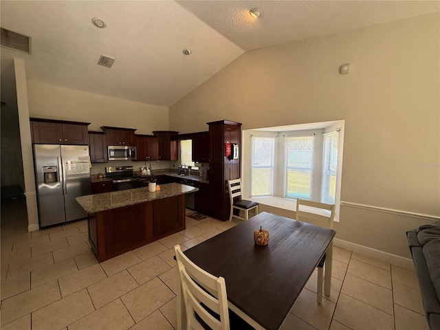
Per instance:
[[[245,320],[228,309],[225,279],[221,276],[213,276],[195,265],[181,252],[180,245],[175,245],[174,250],[181,298],[184,303],[181,308],[178,298],[177,313],[180,312],[179,308],[185,310],[186,329],[230,330],[231,327],[232,329],[253,329]],[[184,328],[184,325],[181,327]]]

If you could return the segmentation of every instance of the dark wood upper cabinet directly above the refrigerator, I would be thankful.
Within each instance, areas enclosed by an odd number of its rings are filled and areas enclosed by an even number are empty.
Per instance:
[[[67,122],[30,118],[32,143],[36,144],[89,144],[89,122]]]

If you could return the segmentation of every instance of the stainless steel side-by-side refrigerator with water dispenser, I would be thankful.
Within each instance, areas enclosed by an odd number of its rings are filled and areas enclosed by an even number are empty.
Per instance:
[[[40,227],[87,217],[75,197],[90,194],[89,146],[34,144]]]

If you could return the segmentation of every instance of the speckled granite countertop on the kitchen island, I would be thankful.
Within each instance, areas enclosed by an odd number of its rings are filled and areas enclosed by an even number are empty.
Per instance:
[[[196,192],[198,188],[184,184],[161,184],[160,190],[149,192],[148,187],[104,192],[102,194],[76,197],[76,201],[87,213],[96,213],[113,208],[122,208],[146,201]]]

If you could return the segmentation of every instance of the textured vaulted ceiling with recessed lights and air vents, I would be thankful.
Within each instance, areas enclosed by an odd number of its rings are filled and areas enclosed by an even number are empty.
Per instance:
[[[2,74],[23,58],[28,80],[168,107],[245,51],[428,14],[440,2],[3,0],[0,9],[2,28],[32,37],[31,55],[1,47]],[[96,65],[100,54],[115,58],[111,69]]]

